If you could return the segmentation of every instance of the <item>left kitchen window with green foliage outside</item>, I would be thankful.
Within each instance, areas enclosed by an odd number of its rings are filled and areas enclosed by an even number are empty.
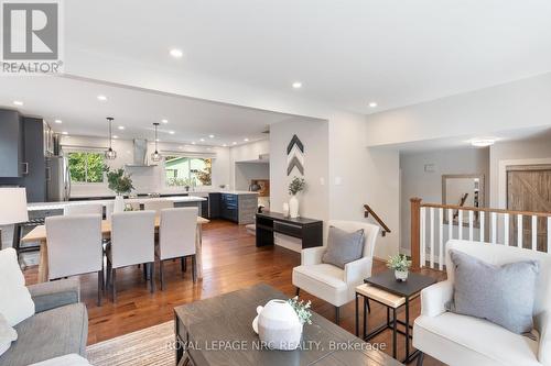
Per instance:
[[[68,165],[72,182],[104,181],[104,153],[69,153]]]

